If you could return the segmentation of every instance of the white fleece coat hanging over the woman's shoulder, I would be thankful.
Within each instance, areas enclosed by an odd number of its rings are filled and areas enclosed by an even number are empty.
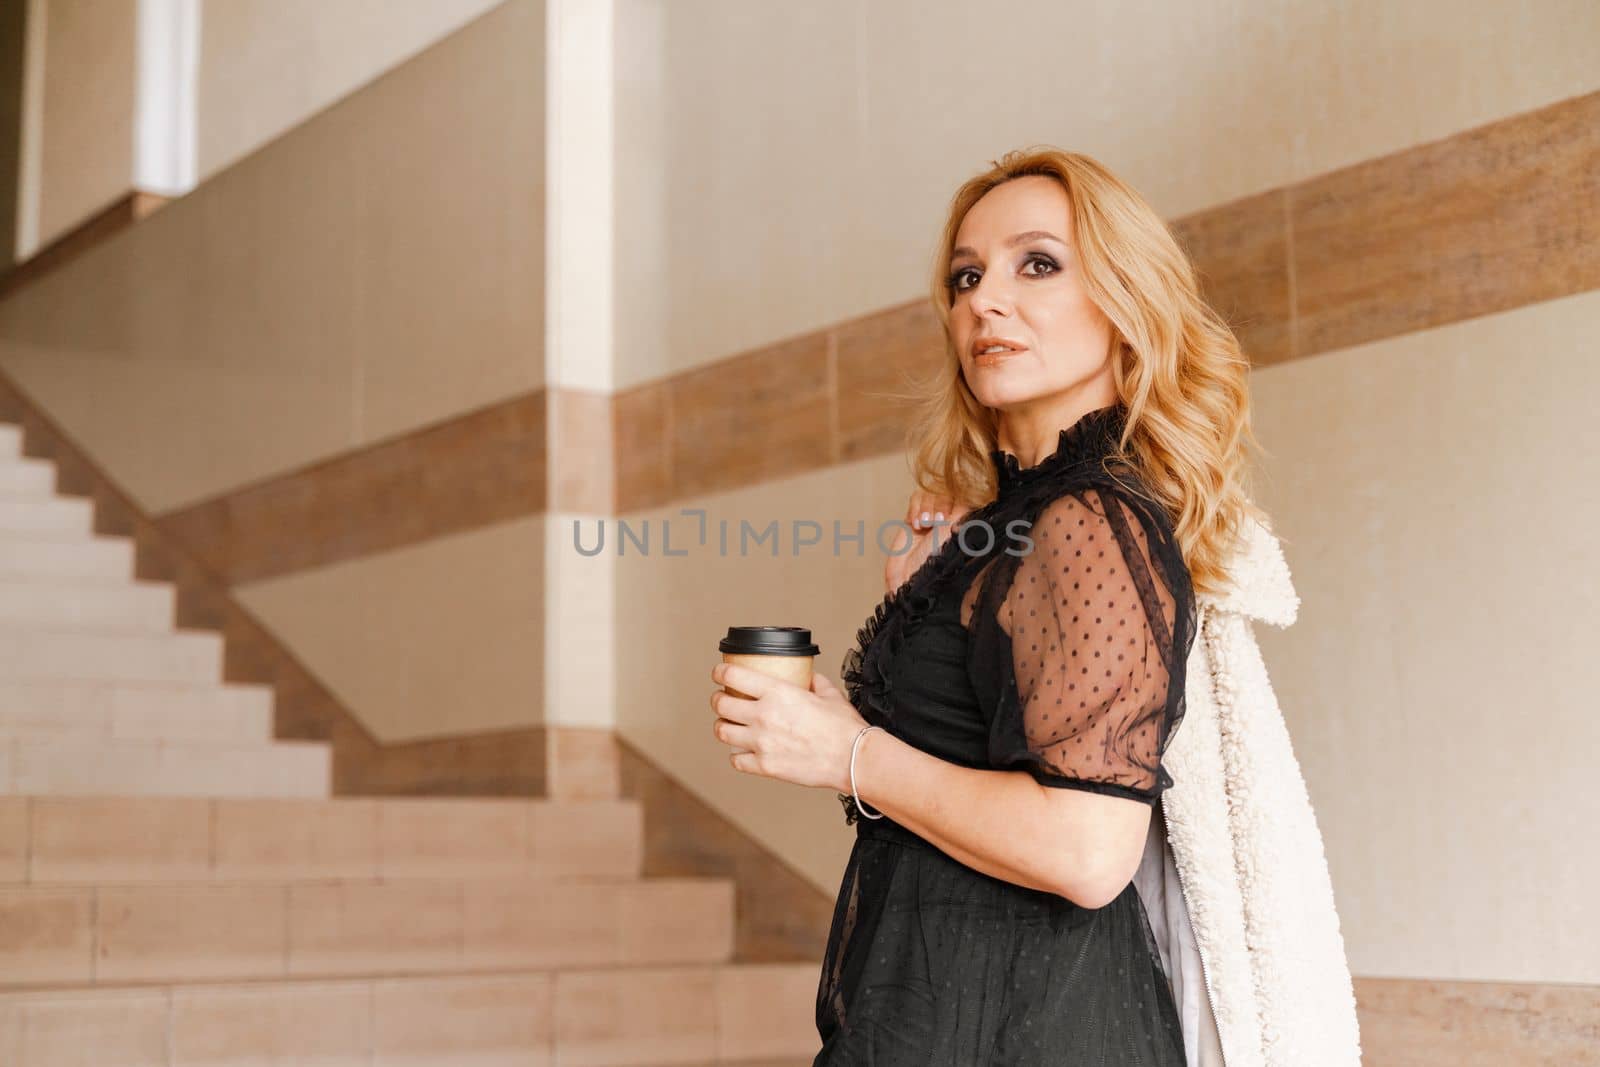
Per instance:
[[[1246,523],[1232,589],[1197,597],[1186,710],[1134,885],[1190,1067],[1362,1062],[1322,832],[1251,624],[1299,609],[1278,539]]]

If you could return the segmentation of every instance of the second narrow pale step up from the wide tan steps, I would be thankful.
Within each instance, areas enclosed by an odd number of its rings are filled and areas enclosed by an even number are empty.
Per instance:
[[[0,736],[267,744],[272,686],[0,680]]]

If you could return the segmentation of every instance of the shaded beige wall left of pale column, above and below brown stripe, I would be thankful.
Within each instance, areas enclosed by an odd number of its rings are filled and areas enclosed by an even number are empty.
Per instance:
[[[0,366],[155,515],[541,387],[542,50],[490,11],[0,301]],[[461,561],[539,576],[539,526],[462,537],[242,598],[384,741],[538,723],[542,584]]]

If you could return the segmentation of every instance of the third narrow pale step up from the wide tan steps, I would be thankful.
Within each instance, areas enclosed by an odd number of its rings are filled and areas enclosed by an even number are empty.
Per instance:
[[[222,680],[222,635],[0,627],[0,680],[27,678],[214,685]]]

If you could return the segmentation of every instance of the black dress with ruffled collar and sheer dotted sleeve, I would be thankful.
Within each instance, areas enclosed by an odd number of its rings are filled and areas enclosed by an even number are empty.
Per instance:
[[[1165,510],[1128,488],[1136,475],[1115,458],[1123,418],[1117,405],[1085,414],[1032,467],[990,453],[997,499],[963,518],[962,537],[942,531],[845,656],[840,677],[869,723],[962,766],[1158,801],[1194,593]],[[856,843],[813,1067],[1184,1067],[1131,883],[1085,909],[840,800]]]

